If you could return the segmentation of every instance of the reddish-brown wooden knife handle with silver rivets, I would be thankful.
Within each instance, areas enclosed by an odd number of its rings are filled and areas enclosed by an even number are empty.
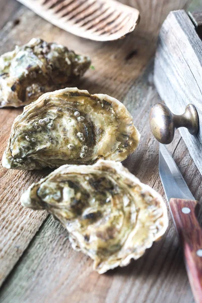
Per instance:
[[[196,303],[202,303],[202,229],[195,215],[196,206],[195,200],[170,199],[193,296]]]

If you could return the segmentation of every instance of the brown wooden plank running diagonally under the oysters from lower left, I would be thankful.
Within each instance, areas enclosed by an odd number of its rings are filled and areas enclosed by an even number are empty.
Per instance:
[[[18,27],[13,28],[12,25],[10,25],[10,28],[9,26],[6,27],[0,34],[0,39],[4,41],[1,47],[1,53],[10,51],[15,44],[27,42],[32,32],[35,32],[36,36],[40,36],[48,41],[55,40],[68,45],[70,48],[76,49],[77,52],[83,54],[90,53],[92,61],[94,62],[95,71],[90,70],[86,74],[85,79],[80,82],[79,88],[87,88],[91,93],[105,92],[118,98],[121,97],[131,86],[155,50],[153,45],[153,47],[150,47],[150,51],[147,52],[147,40],[138,37],[134,37],[133,39],[128,37],[128,39],[114,43],[86,41],[84,44],[83,39],[76,38],[48,24],[26,8],[22,8],[19,11],[17,18],[20,20]],[[31,24],[30,20],[32,20]],[[24,28],[28,30],[25,31]],[[131,53],[134,43],[136,45],[138,44],[138,54],[127,60],[126,58],[128,54]],[[103,62],[107,64],[104,65]],[[131,63],[135,65],[135,69]],[[110,71],[113,71],[113,73]],[[117,89],[117,87],[119,87],[119,89]],[[2,125],[0,138],[1,157],[9,138],[13,120],[21,112],[22,109],[1,110],[1,113],[3,113],[3,115],[0,115],[0,125]],[[34,180],[43,176],[43,172],[24,173],[7,171],[1,165],[0,176],[2,176],[0,216],[1,220],[4,220],[4,225],[1,226],[0,233],[0,243],[2,245],[0,247],[0,258],[3,263],[3,266],[0,268],[0,281],[2,283],[40,227],[46,214],[33,213],[30,210],[25,210],[19,204],[19,197],[23,189],[27,188]],[[13,180],[18,180],[18,184],[15,184],[16,186],[13,186]],[[5,190],[6,186],[8,187],[7,190]],[[11,191],[11,187],[13,191]],[[15,197],[14,199],[13,196]],[[30,216],[29,220],[27,220],[27,215]],[[13,220],[14,217],[15,221]],[[8,219],[5,220],[5,218]],[[19,230],[21,230],[21,232],[18,232]],[[6,246],[3,244],[5,242],[7,243]],[[16,247],[18,247],[18,249],[16,249]]]

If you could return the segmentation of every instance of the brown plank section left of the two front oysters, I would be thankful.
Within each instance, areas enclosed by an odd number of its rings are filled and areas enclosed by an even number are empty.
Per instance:
[[[2,160],[7,138],[10,134],[14,118],[22,112],[19,110],[1,110],[0,115],[0,152]],[[8,272],[13,268],[19,257],[27,247],[40,224],[46,218],[45,212],[34,214],[20,205],[19,196],[23,189],[36,179],[44,175],[44,172],[30,173],[22,171],[9,171],[0,168],[0,281],[2,282]]]

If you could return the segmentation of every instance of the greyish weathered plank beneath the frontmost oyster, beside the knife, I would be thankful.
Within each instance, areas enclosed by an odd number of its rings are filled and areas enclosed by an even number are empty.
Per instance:
[[[149,109],[158,100],[155,88],[149,84],[151,66],[152,62],[123,99],[142,133],[137,155],[127,159],[125,165],[163,194],[158,176],[158,143],[148,132]],[[192,193],[202,201],[202,177],[178,131],[170,150]],[[14,298],[17,303],[63,303],[67,298],[75,303],[194,302],[171,216],[166,236],[142,258],[104,275],[92,271],[92,261],[71,248],[67,231],[49,217],[0,292],[2,303]]]

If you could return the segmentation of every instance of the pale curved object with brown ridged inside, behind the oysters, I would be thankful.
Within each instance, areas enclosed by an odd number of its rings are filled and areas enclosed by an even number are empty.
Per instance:
[[[131,33],[138,10],[116,0],[18,0],[56,26],[80,37],[110,41]]]

